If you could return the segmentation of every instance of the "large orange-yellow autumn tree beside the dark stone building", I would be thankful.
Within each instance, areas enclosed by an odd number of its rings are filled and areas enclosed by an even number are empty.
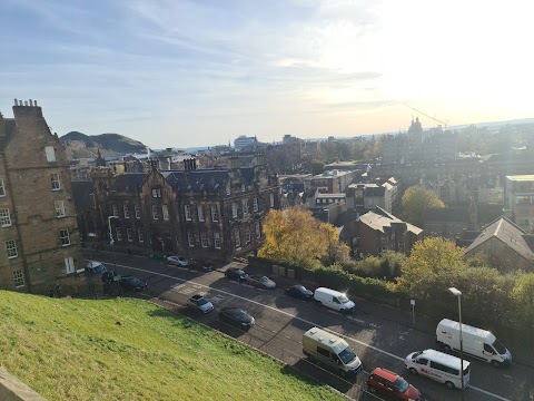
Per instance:
[[[348,247],[339,244],[336,228],[298,207],[271,209],[264,233],[259,257],[309,268],[318,267],[320,261],[334,264],[348,257]]]

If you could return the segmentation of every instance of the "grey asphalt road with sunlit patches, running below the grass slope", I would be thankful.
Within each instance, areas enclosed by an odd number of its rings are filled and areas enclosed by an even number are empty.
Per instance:
[[[187,314],[239,341],[250,344],[289,365],[325,382],[356,400],[379,400],[367,392],[365,380],[376,366],[404,375],[423,393],[423,400],[461,400],[459,390],[448,390],[444,384],[426,378],[411,375],[404,369],[404,358],[418,350],[435,348],[434,336],[379,315],[373,310],[343,315],[298,301],[284,294],[281,287],[260,290],[224,277],[219,271],[200,273],[169,266],[146,257],[100,253],[96,260],[105,262],[108,270],[119,274],[134,274],[148,283],[145,295],[157,297],[167,307]],[[217,266],[216,266],[217,267]],[[275,278],[276,281],[276,278]],[[205,294],[216,311],[202,315],[185,307],[192,294]],[[256,325],[241,332],[217,320],[217,310],[238,306],[256,319]],[[327,327],[344,336],[362,360],[364,370],[356,380],[347,381],[337,374],[309,363],[301,352],[303,333],[312,326]],[[534,355],[533,355],[534,356]],[[471,360],[471,385],[464,390],[467,401],[475,400],[534,400],[534,369],[513,363],[508,369],[495,369],[487,363]]]

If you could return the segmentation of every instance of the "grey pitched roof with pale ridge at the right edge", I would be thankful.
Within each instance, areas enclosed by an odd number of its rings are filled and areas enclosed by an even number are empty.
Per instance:
[[[475,250],[491,238],[502,241],[506,246],[514,250],[523,257],[534,261],[534,252],[531,247],[533,243],[532,236],[506,217],[497,218],[484,227],[481,231],[481,234],[465,250],[465,253]]]

